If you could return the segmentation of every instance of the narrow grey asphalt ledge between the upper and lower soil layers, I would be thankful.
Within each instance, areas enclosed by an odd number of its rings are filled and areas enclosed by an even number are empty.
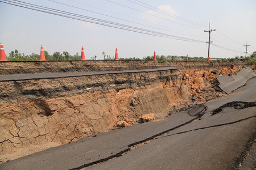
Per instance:
[[[162,67],[157,69],[142,69],[142,70],[121,70],[121,71],[95,71],[95,72],[76,72],[76,73],[35,73],[35,74],[11,74],[0,75],[0,82],[12,80],[29,80],[29,79],[44,79],[44,78],[64,78],[71,76],[86,76],[86,75],[102,75],[102,74],[122,74],[122,73],[147,73],[153,71],[177,70],[176,67]]]

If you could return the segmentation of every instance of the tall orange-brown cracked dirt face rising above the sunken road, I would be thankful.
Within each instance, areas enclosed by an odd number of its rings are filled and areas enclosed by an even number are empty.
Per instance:
[[[186,67],[0,82],[0,161],[113,128],[162,119],[172,111],[225,96],[209,81],[219,73],[234,74],[242,66]]]

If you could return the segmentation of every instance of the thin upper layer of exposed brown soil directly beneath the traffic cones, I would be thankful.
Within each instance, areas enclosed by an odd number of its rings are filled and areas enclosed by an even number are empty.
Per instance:
[[[182,61],[0,61],[1,74],[138,70],[174,66],[180,70],[214,67],[255,66],[253,62]]]

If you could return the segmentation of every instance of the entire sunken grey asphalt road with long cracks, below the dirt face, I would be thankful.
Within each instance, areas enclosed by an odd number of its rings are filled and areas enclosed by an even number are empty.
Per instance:
[[[3,163],[0,169],[236,169],[256,134],[255,87],[253,78],[229,97],[163,121],[86,137]],[[212,114],[217,108],[222,109]]]

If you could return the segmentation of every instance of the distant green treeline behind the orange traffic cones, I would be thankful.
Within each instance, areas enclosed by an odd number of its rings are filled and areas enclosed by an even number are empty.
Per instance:
[[[46,50],[44,51],[44,56],[46,60],[48,61],[78,61],[81,58],[81,55],[76,52],[75,55],[71,55],[68,52],[55,52],[52,55],[50,55]],[[106,55],[105,52],[102,52],[102,56],[104,57],[104,60],[114,60],[114,56],[110,57],[109,55]],[[152,61],[154,56],[147,56],[141,58],[119,58],[121,61]],[[250,57],[243,57],[243,56],[236,56],[233,58],[229,58],[229,62],[256,62],[256,51],[253,52]],[[20,54],[18,50],[11,51],[9,53],[9,56],[6,55],[7,60],[9,61],[38,61],[40,59],[40,54],[32,53],[30,55],[25,55],[24,53]],[[159,56],[156,55],[156,60],[158,61],[185,61],[187,56]],[[97,56],[85,58],[86,60],[97,60]],[[188,61],[207,61],[207,58],[204,57],[188,57]],[[226,59],[223,58],[210,58],[210,61],[212,62],[225,62]]]

